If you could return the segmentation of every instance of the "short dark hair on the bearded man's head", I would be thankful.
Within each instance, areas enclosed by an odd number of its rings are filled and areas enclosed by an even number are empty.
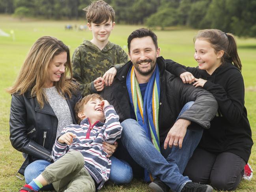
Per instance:
[[[129,35],[128,39],[127,39],[127,43],[128,43],[128,51],[130,52],[130,45],[131,45],[131,41],[134,38],[142,38],[142,37],[151,37],[155,48],[158,48],[157,45],[157,35],[155,35],[155,33],[151,30],[151,29],[145,29],[145,28],[140,28],[135,30],[134,32],[131,33],[131,35]]]

